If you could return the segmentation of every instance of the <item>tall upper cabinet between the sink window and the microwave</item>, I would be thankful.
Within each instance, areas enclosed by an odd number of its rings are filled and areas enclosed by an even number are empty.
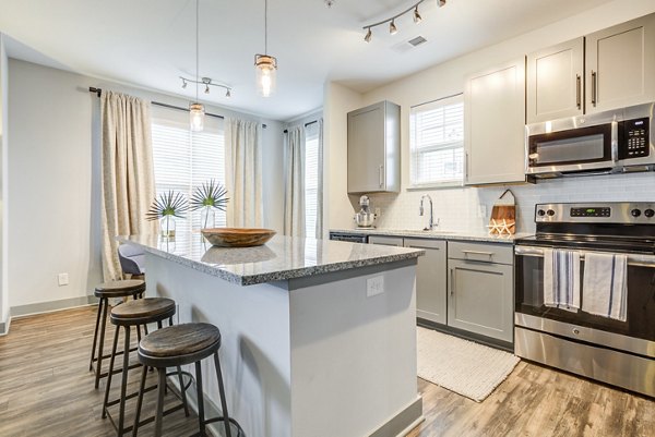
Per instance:
[[[465,184],[525,182],[525,58],[468,77],[464,130]]]

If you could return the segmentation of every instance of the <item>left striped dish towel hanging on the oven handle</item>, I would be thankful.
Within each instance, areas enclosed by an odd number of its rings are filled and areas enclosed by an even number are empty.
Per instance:
[[[580,309],[580,253],[544,248],[544,305]]]

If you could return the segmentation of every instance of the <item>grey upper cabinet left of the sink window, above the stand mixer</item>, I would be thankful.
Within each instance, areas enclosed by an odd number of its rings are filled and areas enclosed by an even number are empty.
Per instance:
[[[381,101],[348,112],[348,193],[400,190],[401,107]]]

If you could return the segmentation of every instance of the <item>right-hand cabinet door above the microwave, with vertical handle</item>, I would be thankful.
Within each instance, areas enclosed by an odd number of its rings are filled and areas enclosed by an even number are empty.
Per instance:
[[[586,36],[586,112],[655,100],[655,14]]]

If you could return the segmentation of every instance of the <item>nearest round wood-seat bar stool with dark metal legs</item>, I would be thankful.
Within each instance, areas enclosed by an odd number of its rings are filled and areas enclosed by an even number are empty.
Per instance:
[[[181,366],[184,364],[195,364],[195,387],[198,391],[198,420],[200,423],[200,435],[205,436],[205,427],[210,423],[223,422],[225,435],[231,437],[230,423],[236,426],[237,436],[245,436],[243,429],[237,421],[230,418],[227,412],[227,401],[225,400],[225,388],[223,386],[223,375],[221,373],[221,363],[218,361],[218,349],[221,348],[221,331],[214,325],[194,323],[171,326],[148,333],[139,343],[139,361],[143,364],[141,374],[141,388],[139,390],[139,400],[136,402],[136,415],[134,417],[133,436],[139,430],[139,417],[141,415],[141,405],[143,403],[143,392],[147,367],[155,367],[158,372],[159,383],[157,385],[157,411],[155,414],[155,436],[162,435],[162,422],[164,411],[164,390],[166,387],[166,367]],[[202,371],[200,362],[214,355],[214,367],[216,368],[216,379],[218,380],[218,392],[221,394],[221,408],[223,416],[205,420],[204,399],[202,394]]]

